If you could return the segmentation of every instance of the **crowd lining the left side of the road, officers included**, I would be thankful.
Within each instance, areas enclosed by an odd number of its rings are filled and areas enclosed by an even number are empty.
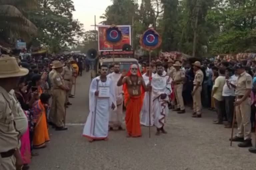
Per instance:
[[[65,107],[85,63],[76,55],[0,57],[1,170],[29,169],[50,141],[48,125],[67,130]]]

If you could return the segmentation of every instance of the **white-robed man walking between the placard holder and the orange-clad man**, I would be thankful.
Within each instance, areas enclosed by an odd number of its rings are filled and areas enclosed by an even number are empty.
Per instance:
[[[107,75],[114,85],[115,95],[116,95],[116,110],[110,111],[109,115],[109,130],[113,130],[113,128],[118,128],[118,130],[123,130],[122,122],[123,122],[123,86],[117,86],[117,82],[121,77],[120,73],[120,64],[114,64],[114,72]]]

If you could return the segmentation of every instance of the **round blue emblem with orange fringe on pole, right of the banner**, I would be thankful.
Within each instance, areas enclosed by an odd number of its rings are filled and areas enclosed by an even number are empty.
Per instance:
[[[161,43],[162,38],[153,28],[145,31],[140,39],[141,46],[146,50],[154,50],[158,48]]]

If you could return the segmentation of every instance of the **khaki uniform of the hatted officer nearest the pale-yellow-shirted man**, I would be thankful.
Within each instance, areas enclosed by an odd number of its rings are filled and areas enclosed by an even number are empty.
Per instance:
[[[200,84],[198,89],[195,91],[194,96],[193,96],[193,109],[194,109],[194,113],[196,113],[197,115],[202,114],[201,92],[202,92],[203,79],[204,79],[203,72],[200,69],[197,70],[196,74],[195,74],[195,79],[193,81],[193,84],[194,84],[193,90],[195,90],[196,84],[198,82]]]

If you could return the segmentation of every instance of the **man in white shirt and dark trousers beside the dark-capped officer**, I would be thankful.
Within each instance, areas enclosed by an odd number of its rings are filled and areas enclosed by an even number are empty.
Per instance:
[[[232,128],[232,121],[234,115],[235,89],[230,84],[235,85],[238,76],[234,74],[231,68],[226,69],[226,83],[223,87],[222,96],[225,101],[225,110],[227,114],[228,124],[225,128]],[[228,83],[227,83],[228,82]]]

